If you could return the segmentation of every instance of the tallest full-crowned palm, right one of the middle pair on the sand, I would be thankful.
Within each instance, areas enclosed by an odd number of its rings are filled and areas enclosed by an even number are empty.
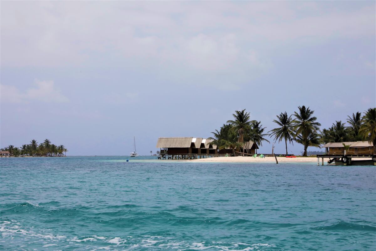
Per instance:
[[[307,148],[310,144],[309,137],[318,135],[317,131],[319,130],[320,123],[316,122],[317,117],[312,116],[314,111],[310,110],[309,107],[299,106],[299,113],[294,112],[295,119],[294,131],[295,138],[299,136],[299,141],[304,146],[303,156],[307,156]]]

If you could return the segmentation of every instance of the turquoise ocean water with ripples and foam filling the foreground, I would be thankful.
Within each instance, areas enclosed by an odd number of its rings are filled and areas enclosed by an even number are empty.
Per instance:
[[[373,166],[154,158],[1,158],[0,249],[376,249]]]

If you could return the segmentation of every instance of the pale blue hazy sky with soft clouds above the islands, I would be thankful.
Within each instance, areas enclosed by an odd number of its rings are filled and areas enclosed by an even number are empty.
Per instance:
[[[210,137],[236,110],[269,131],[302,105],[321,128],[376,106],[374,1],[1,1],[0,12],[0,147],[48,138],[68,155],[129,155],[135,137],[150,155],[158,137]]]

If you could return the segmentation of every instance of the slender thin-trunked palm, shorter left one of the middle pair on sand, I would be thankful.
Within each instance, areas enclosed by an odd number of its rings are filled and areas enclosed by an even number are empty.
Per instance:
[[[274,136],[274,142],[280,142],[282,139],[285,140],[286,145],[286,155],[287,155],[287,141],[290,144],[293,143],[293,136],[294,136],[294,125],[293,125],[293,119],[291,118],[292,115],[288,116],[287,112],[280,113],[277,115],[277,120],[273,120],[274,123],[279,125],[280,127],[274,128],[273,130],[270,130],[271,134],[270,136]]]

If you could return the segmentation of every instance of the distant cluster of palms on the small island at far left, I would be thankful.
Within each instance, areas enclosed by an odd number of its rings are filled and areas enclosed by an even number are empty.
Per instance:
[[[47,157],[61,157],[67,155],[67,148],[64,145],[51,144],[49,139],[45,139],[43,143],[39,143],[36,140],[31,140],[30,144],[24,144],[21,147],[14,147],[9,145],[6,148],[0,149],[0,151],[8,151],[11,156],[47,156]]]

